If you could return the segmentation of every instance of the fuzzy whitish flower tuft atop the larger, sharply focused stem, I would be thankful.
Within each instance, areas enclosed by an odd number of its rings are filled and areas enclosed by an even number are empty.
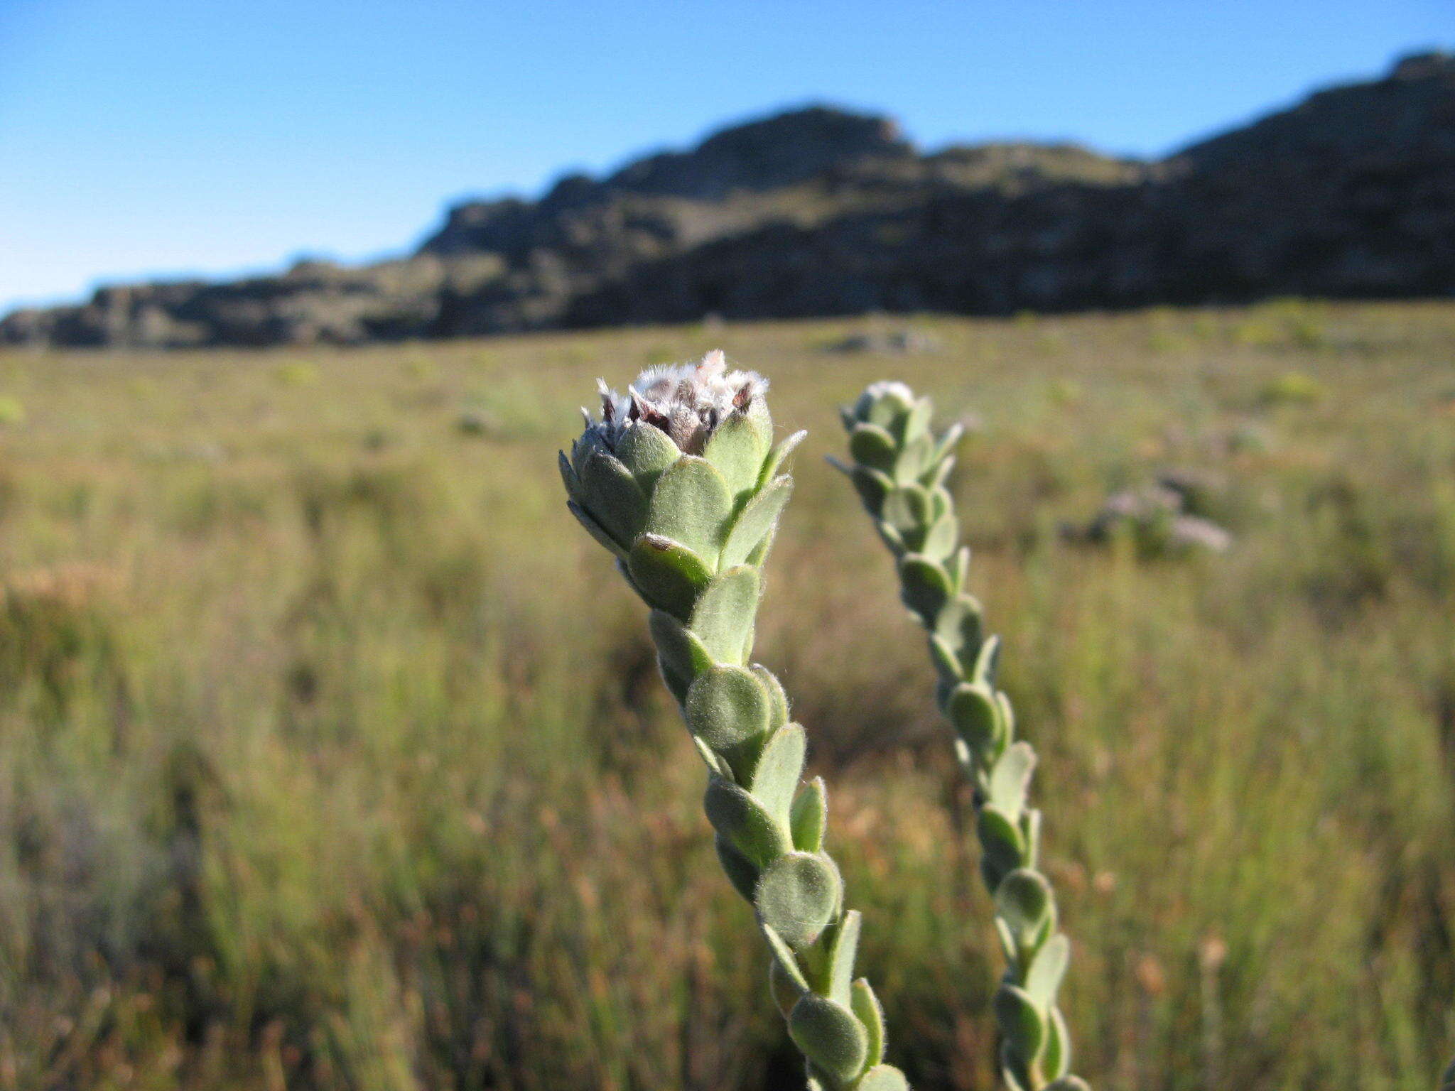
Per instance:
[[[722,351],[714,349],[697,364],[646,368],[624,396],[604,381],[597,387],[601,420],[588,415],[586,425],[610,449],[627,428],[643,420],[666,432],[684,454],[701,454],[717,425],[746,413],[768,390],[768,380],[755,371],[728,371]]]

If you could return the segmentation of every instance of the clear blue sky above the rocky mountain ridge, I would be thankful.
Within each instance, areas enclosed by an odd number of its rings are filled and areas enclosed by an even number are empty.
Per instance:
[[[402,250],[784,105],[1158,154],[1452,41],[1452,0],[0,0],[0,310]]]

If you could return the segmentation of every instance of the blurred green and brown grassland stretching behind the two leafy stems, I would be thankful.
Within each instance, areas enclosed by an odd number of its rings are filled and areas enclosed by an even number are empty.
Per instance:
[[[728,349],[810,438],[760,655],[831,786],[892,1058],[989,1088],[998,956],[848,487],[870,378],[954,476],[1043,755],[1106,1091],[1423,1091],[1455,1047],[1455,305],[0,356],[0,1090],[800,1087],[701,771],[554,452]],[[1165,467],[1237,543],[1062,538]],[[751,951],[751,957],[744,951]]]

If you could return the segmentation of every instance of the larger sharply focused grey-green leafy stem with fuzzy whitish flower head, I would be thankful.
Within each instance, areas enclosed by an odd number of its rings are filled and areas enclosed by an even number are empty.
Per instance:
[[[883,1063],[885,1026],[854,978],[858,914],[824,851],[822,780],[803,783],[805,733],[778,679],[751,662],[762,563],[789,499],[767,383],[720,352],[652,368],[560,457],[567,506],[652,608],[662,678],[707,762],[717,855],[757,912],[773,996],[813,1091],[908,1091]]]

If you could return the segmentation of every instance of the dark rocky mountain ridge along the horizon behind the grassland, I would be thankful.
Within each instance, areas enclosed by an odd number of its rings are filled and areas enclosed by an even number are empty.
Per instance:
[[[99,289],[0,343],[278,345],[563,326],[1266,295],[1455,295],[1455,57],[1320,92],[1167,160],[1074,145],[917,151],[821,106],[538,201],[453,208],[361,268]]]

